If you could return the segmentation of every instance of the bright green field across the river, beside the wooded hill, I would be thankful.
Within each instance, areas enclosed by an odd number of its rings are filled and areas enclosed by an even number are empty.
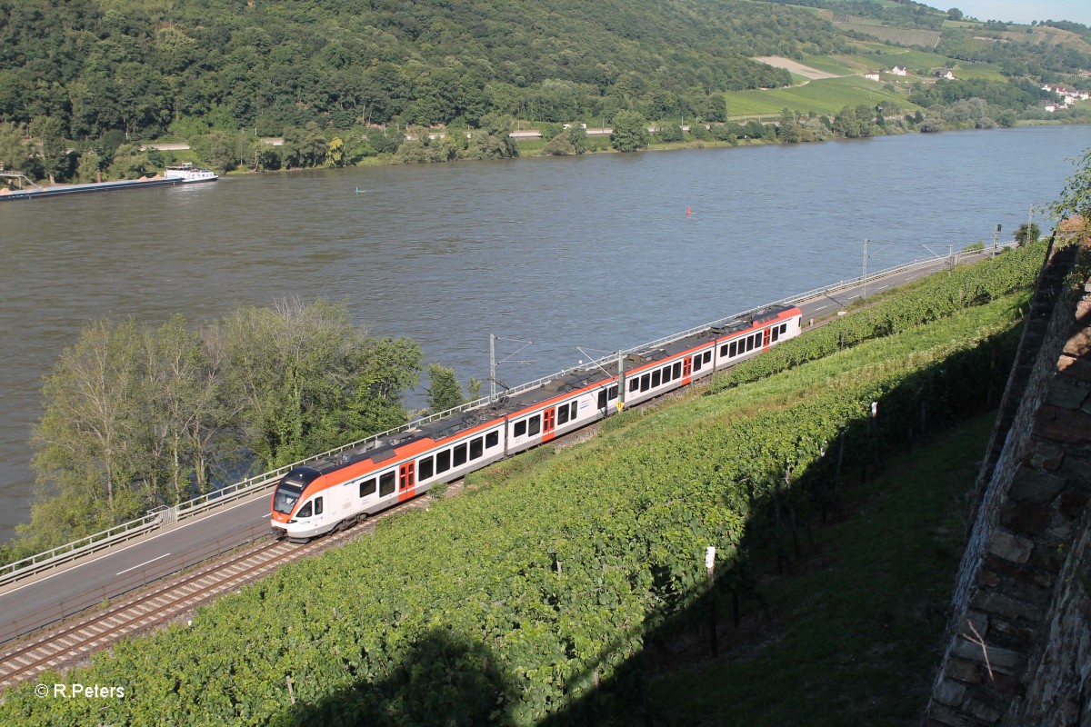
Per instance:
[[[814,111],[836,114],[846,106],[895,104],[901,109],[915,109],[904,96],[884,89],[861,76],[824,78],[805,86],[769,90],[739,90],[724,94],[731,118],[778,114],[788,108],[798,113]]]

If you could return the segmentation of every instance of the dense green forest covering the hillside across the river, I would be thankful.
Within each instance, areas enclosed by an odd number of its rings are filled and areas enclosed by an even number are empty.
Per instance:
[[[0,120],[75,142],[355,123],[476,128],[722,114],[712,94],[786,85],[748,56],[825,52],[807,13],[707,0],[0,0]],[[722,104],[719,106],[722,107]]]

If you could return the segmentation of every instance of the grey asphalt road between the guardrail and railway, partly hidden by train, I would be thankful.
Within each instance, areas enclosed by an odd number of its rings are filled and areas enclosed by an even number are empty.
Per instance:
[[[975,262],[967,255],[962,262]],[[867,284],[872,296],[943,269],[946,260]],[[836,313],[864,294],[863,287],[820,295],[800,305],[803,323]],[[0,591],[0,642],[50,623],[181,570],[269,530],[271,489],[200,518],[156,530],[86,559],[13,583]]]

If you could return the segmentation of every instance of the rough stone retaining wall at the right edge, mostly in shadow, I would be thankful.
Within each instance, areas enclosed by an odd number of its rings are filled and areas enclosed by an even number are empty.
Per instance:
[[[1060,246],[1039,281],[1009,379],[1021,401],[983,465],[927,727],[1091,727],[1089,264],[1091,245]]]

